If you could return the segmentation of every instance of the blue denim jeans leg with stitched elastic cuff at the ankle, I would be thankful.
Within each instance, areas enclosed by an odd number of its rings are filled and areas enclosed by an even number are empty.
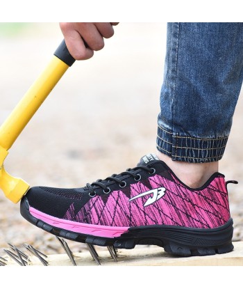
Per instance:
[[[169,23],[157,148],[183,162],[224,155],[243,79],[243,23]]]

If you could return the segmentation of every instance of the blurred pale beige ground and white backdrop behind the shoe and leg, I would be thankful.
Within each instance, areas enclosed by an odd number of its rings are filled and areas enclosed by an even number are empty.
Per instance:
[[[58,23],[0,23],[0,122],[49,62],[62,40]],[[137,164],[156,151],[165,23],[124,23],[105,49],[74,63],[9,151],[6,170],[31,187],[83,187]],[[234,240],[243,240],[243,100],[221,173],[229,185]],[[0,256],[10,242],[62,252],[56,237],[29,224],[0,192]],[[68,242],[68,240],[67,240]],[[74,251],[83,244],[68,242]]]

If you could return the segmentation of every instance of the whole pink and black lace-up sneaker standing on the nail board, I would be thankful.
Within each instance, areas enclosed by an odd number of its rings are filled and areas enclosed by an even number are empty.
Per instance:
[[[214,173],[191,189],[149,154],[134,169],[82,188],[33,187],[20,208],[35,226],[76,242],[123,249],[153,244],[206,256],[233,250],[228,182]]]

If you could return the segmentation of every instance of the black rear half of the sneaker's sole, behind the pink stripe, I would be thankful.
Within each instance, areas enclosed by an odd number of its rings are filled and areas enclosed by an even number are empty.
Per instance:
[[[223,226],[211,229],[143,226],[129,228],[128,231],[115,242],[115,247],[132,249],[136,244],[154,244],[163,247],[167,253],[178,256],[215,255],[228,253],[234,248],[233,219],[229,219]]]

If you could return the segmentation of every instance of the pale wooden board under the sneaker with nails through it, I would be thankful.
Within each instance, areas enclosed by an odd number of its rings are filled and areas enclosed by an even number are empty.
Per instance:
[[[162,248],[156,246],[135,247],[132,250],[120,249],[115,262],[107,249],[95,247],[99,254],[102,266],[242,266],[243,265],[243,242],[234,242],[235,249],[231,253],[217,254],[213,256],[192,256],[178,257],[171,256]],[[89,251],[74,253],[74,260],[77,266],[97,266]],[[8,265],[19,266],[10,257],[5,256]],[[29,265],[42,266],[40,260],[30,256]],[[64,254],[50,255],[47,258],[49,266],[72,266],[69,257]]]

